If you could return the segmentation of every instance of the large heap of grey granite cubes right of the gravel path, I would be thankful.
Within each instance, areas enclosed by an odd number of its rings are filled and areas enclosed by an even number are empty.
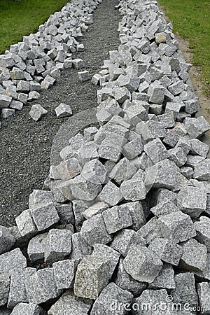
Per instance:
[[[69,139],[17,226],[0,228],[13,315],[210,313],[210,125],[157,2],[119,8],[121,44],[92,78],[99,127]]]

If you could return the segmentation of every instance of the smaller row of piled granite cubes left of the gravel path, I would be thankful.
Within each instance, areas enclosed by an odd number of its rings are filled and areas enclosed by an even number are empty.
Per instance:
[[[73,52],[83,51],[77,40],[92,23],[92,11],[101,0],[72,0],[39,27],[35,34],[10,46],[0,56],[0,114],[15,115],[27,102],[40,97],[59,78],[62,69],[85,66],[72,60]],[[78,67],[79,65],[79,67]]]

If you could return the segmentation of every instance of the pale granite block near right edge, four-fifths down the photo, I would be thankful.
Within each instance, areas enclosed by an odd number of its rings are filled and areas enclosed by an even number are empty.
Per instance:
[[[181,256],[181,268],[188,271],[202,271],[207,266],[207,247],[196,239],[189,239],[181,244],[183,255]]]

